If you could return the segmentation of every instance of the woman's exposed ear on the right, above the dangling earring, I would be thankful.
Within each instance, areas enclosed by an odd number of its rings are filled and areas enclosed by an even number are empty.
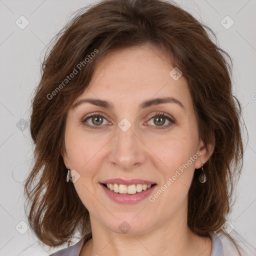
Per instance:
[[[201,168],[202,164],[205,164],[205,162],[209,159],[209,157],[213,153],[213,150],[214,150],[214,147],[215,147],[215,142],[214,141],[215,141],[214,134],[212,134],[211,142],[208,143],[206,146],[204,145],[203,141],[200,138],[197,151],[199,151],[201,154],[195,160],[195,165],[194,165],[195,169]]]

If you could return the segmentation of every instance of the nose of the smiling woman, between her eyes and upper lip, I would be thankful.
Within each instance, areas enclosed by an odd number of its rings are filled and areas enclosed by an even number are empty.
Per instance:
[[[110,162],[122,170],[130,170],[142,165],[146,159],[146,146],[134,133],[132,126],[126,131],[119,127],[116,130],[109,152]]]

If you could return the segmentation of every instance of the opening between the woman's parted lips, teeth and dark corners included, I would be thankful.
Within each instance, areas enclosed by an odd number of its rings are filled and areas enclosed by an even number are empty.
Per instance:
[[[148,190],[156,185],[156,183],[153,184],[117,184],[117,183],[100,183],[104,187],[106,187],[108,190],[115,192],[117,194],[138,194],[140,192],[143,192],[145,190]]]

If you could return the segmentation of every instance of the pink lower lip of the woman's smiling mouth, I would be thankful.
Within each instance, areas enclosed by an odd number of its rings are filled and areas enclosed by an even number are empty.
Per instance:
[[[119,194],[114,191],[111,191],[110,189],[105,187],[103,184],[100,184],[100,185],[103,188],[103,190],[105,191],[106,195],[108,195],[108,197],[110,199],[112,199],[113,201],[118,202],[118,203],[138,202],[138,201],[144,199],[145,197],[147,197],[152,192],[152,190],[156,187],[156,184],[155,184],[155,185],[151,186],[150,188],[147,188],[146,190],[143,190],[139,193]]]

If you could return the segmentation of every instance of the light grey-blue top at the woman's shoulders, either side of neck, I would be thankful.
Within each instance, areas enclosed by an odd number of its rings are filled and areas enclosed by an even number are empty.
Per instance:
[[[213,232],[209,232],[209,234],[212,240],[212,250],[211,250],[210,256],[224,256],[223,246],[219,237]],[[53,254],[51,254],[51,256],[79,256],[79,253],[82,249],[85,239],[88,240],[89,236],[88,235],[83,236],[83,238],[80,239],[74,245],[68,248],[59,250],[57,252],[54,252]]]

